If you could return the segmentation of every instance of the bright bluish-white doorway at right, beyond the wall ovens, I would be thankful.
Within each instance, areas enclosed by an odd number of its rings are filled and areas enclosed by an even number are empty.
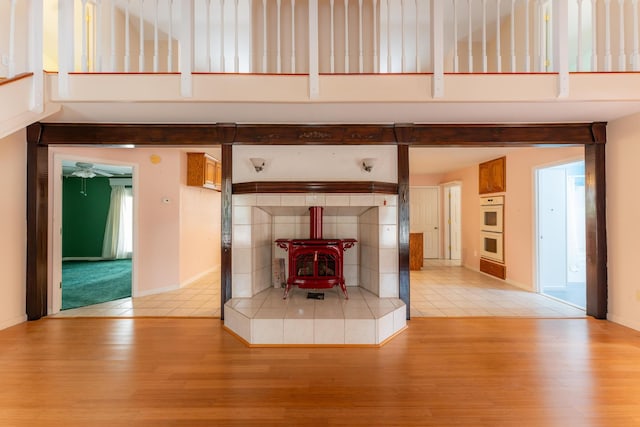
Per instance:
[[[537,169],[536,187],[538,291],[584,309],[584,161]]]

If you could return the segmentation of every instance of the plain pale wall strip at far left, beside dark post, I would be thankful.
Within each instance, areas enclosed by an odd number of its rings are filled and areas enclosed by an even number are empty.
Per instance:
[[[0,139],[0,329],[26,320],[26,167],[25,131]]]

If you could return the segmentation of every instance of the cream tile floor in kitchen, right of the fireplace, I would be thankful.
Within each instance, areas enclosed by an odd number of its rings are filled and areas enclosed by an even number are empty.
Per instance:
[[[486,274],[425,260],[411,272],[411,317],[585,317],[582,309]]]

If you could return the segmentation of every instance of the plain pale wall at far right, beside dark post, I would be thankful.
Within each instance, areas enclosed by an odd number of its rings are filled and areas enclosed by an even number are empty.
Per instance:
[[[607,126],[608,318],[640,330],[640,114]]]

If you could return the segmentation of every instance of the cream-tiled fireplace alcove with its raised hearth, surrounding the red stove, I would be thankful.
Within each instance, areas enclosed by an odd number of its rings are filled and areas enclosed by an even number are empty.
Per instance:
[[[397,196],[385,194],[241,194],[233,196],[233,298],[225,326],[252,345],[378,345],[406,327],[398,298]],[[346,300],[289,297],[274,284],[273,260],[287,254],[277,238],[308,238],[309,207],[324,207],[324,238],[355,238],[345,252]],[[285,266],[286,271],[286,266]]]

